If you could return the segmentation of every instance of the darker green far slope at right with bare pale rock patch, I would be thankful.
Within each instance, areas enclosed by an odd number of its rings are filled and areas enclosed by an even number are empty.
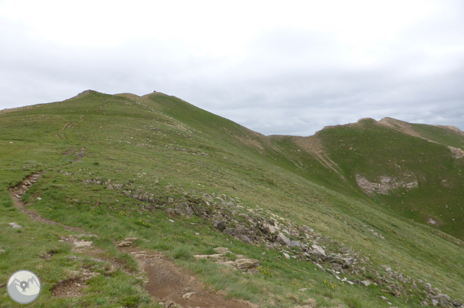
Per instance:
[[[302,144],[299,139],[293,142]],[[340,176],[376,203],[464,239],[461,130],[363,119],[306,139],[318,139]]]

